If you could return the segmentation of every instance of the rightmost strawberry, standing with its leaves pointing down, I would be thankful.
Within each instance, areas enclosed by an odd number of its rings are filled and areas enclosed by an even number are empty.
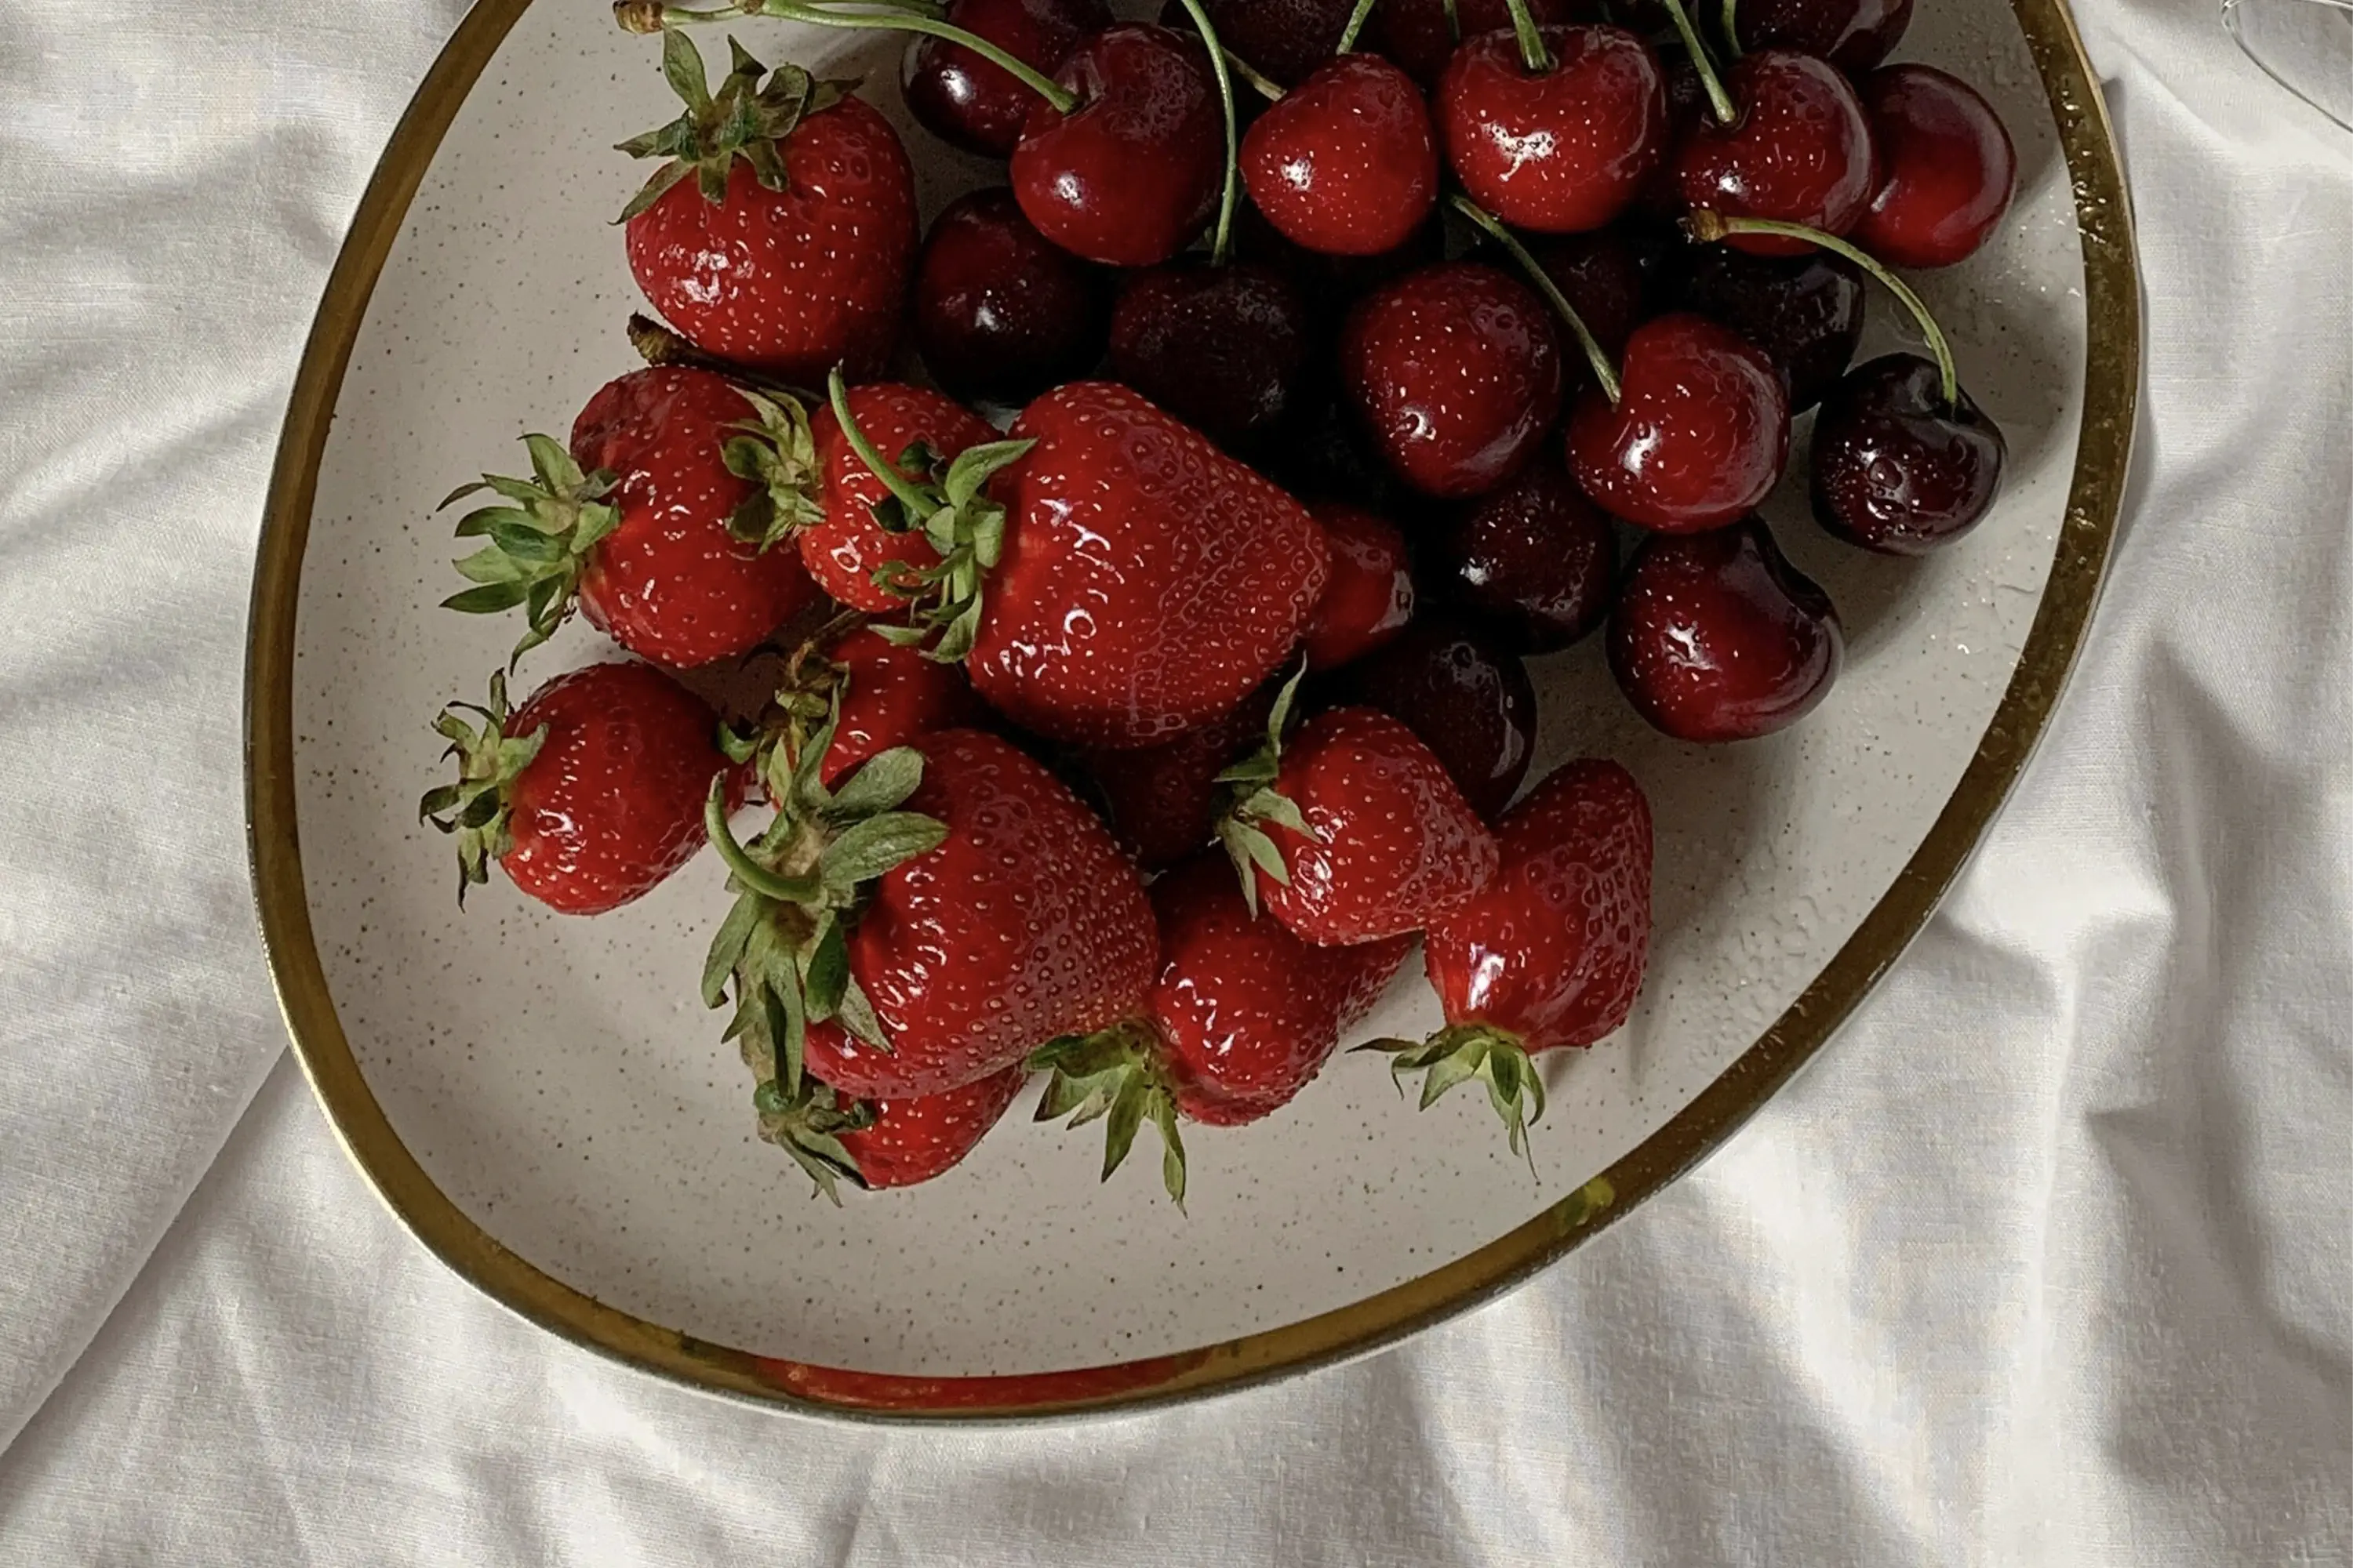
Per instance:
[[[1379,1046],[1400,1077],[1428,1070],[1424,1105],[1464,1079],[1487,1084],[1518,1154],[1544,1114],[1527,1058],[1591,1046],[1626,1023],[1642,990],[1649,802],[1619,764],[1572,762],[1511,809],[1499,837],[1497,879],[1424,933],[1447,1027]]]

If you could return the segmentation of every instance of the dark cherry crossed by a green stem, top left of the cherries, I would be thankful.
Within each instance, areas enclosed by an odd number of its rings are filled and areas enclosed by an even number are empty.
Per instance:
[[[948,0],[944,21],[1054,75],[1080,38],[1111,26],[1111,7],[1104,0]],[[906,47],[899,85],[925,129],[991,158],[1014,150],[1038,101],[1009,71],[944,38]]]

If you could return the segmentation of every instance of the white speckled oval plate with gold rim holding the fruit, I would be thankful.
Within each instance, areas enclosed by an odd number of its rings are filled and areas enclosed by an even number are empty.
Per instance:
[[[904,122],[894,40],[744,33],[765,59],[864,71]],[[1781,738],[1675,745],[1617,696],[1598,639],[1537,661],[1539,776],[1619,757],[1659,820],[1649,985],[1619,1037],[1546,1058],[1541,1175],[1480,1095],[1414,1114],[1377,1060],[1339,1058],[1278,1119],[1193,1133],[1191,1215],[1155,1159],[1099,1187],[1092,1135],[1019,1110],[948,1178],[833,1208],[753,1138],[748,1074],[696,999],[715,858],[600,919],[496,879],[459,917],[449,844],[416,825],[426,719],[478,696],[513,637],[435,609],[452,541],[433,505],[633,364],[609,219],[642,169],[607,148],[671,115],[654,45],[605,7],[482,0],[334,273],[254,592],[261,917],[362,1168],[548,1328],[701,1387],[899,1415],[1132,1403],[1367,1349],[1671,1180],[1824,1041],[1977,842],[2089,616],[2122,487],[2129,223],[2059,0],[1925,0],[1904,54],[1988,89],[2021,153],[1993,244],[1920,280],[2009,435],[2007,489],[1906,564],[1833,545],[1784,487],[1767,512],[1838,599],[1849,668]],[[922,132],[908,146],[927,214],[988,174]],[[1866,353],[1904,334],[1873,336]],[[576,625],[520,684],[598,654]],[[1414,964],[1367,1034],[1435,1020]]]

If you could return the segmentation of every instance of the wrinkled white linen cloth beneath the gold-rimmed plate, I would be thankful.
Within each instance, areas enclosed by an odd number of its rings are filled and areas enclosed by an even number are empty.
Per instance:
[[[2353,1561],[2353,139],[2212,0],[2080,12],[2148,284],[2127,524],[2040,757],[1854,1025],[1638,1218],[1395,1354],[856,1432],[508,1319],[282,1058],[249,545],[459,0],[16,0],[0,1563]]]

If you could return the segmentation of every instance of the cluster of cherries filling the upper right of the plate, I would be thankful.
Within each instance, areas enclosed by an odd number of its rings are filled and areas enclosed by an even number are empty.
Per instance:
[[[922,33],[913,113],[1009,160],[915,263],[939,386],[1019,404],[1108,360],[1299,494],[1428,517],[1417,576],[1487,623],[1442,668],[1489,628],[1537,654],[1607,621],[1661,731],[1762,736],[1840,665],[1828,597],[1755,517],[1791,418],[1819,407],[1812,503],[1842,541],[1920,555],[1993,503],[2002,435],[1887,266],[1969,256],[2017,158],[1965,82],[1882,63],[1911,0],[1737,0],[1713,38],[1680,0],[1614,26],[1593,0],[619,9]],[[1447,212],[1475,242],[1454,261]],[[1849,369],[1866,275],[1927,355]],[[1405,538],[1353,517],[1344,550],[1402,571]],[[1642,531],[1624,567],[1612,520]]]

